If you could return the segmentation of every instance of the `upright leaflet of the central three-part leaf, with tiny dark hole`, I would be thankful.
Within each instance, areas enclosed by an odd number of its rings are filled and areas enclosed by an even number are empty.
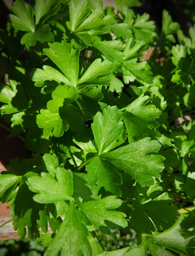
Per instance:
[[[91,129],[98,154],[110,151],[123,143],[122,140],[119,140],[123,134],[123,122],[121,120],[122,116],[116,106],[108,106],[104,109],[103,115],[101,112],[97,112],[94,116]]]

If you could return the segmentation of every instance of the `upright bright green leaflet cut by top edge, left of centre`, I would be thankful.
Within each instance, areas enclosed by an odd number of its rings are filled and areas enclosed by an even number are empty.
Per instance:
[[[70,10],[70,27],[74,32],[90,13],[89,3],[87,0],[71,0],[68,5]]]

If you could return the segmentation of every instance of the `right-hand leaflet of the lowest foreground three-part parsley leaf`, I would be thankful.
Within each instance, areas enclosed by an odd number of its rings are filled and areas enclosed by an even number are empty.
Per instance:
[[[104,197],[101,200],[93,200],[85,203],[80,203],[79,207],[82,212],[88,217],[95,228],[104,230],[107,229],[107,221],[114,223],[117,226],[127,226],[126,215],[116,209],[120,207],[122,201],[115,196]]]

